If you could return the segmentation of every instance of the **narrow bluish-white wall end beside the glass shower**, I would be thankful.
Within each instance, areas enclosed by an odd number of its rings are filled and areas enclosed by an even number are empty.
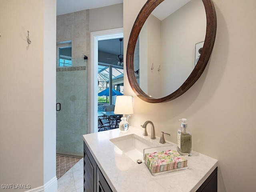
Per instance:
[[[44,192],[57,189],[56,35],[53,34],[56,34],[56,0],[44,0]]]

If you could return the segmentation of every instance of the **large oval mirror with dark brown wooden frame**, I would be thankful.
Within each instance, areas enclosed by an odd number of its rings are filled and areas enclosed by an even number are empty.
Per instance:
[[[126,70],[136,95],[158,103],[186,92],[204,71],[215,35],[211,0],[148,0],[127,47]]]

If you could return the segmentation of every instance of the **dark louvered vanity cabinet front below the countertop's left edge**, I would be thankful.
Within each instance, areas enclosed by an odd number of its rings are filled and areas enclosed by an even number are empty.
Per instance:
[[[84,192],[112,192],[84,142]]]

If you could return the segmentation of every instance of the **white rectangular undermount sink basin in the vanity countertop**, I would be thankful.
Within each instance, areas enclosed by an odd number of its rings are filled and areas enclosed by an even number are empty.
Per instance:
[[[134,162],[137,162],[137,160],[143,161],[143,150],[145,148],[156,146],[156,144],[153,144],[136,134],[110,139],[110,141]]]

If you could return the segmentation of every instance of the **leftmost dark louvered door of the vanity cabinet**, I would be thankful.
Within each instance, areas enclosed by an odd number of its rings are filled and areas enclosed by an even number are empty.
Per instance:
[[[84,143],[84,191],[97,191],[97,164]]]

